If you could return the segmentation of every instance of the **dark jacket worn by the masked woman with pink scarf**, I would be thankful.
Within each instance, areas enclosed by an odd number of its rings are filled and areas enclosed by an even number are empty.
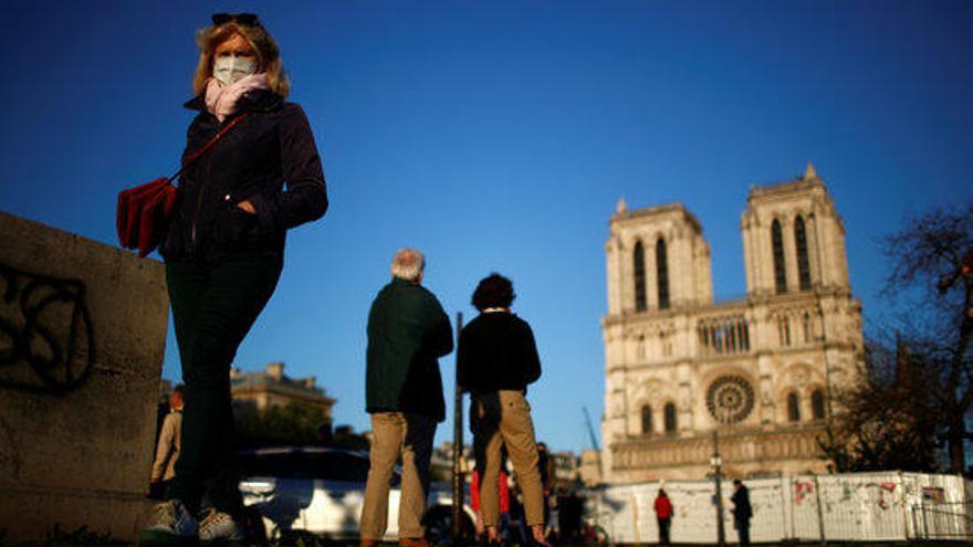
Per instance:
[[[202,97],[186,103],[199,115],[189,125],[184,159],[221,124]],[[180,177],[179,203],[159,253],[167,261],[216,262],[244,252],[283,252],[287,229],[327,210],[321,158],[304,111],[263,92],[241,105],[250,113]],[[286,191],[284,183],[286,182]],[[257,214],[237,203],[250,200]]]

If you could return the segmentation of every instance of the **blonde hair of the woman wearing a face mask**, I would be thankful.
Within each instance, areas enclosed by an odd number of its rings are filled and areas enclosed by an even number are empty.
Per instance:
[[[230,21],[223,24],[215,24],[196,31],[196,45],[199,46],[199,63],[192,75],[192,93],[199,95],[206,90],[207,81],[212,77],[213,54],[219,44],[229,40],[233,34],[240,34],[247,43],[253,48],[257,55],[258,72],[266,74],[266,84],[270,91],[286,97],[291,92],[291,82],[284,74],[284,64],[281,61],[281,50],[271,38],[266,29],[260,24],[240,24]]]

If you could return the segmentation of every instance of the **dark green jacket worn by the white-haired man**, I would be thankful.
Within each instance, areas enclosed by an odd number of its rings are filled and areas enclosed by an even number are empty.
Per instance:
[[[446,419],[438,358],[452,351],[452,327],[436,296],[395,278],[368,313],[365,410]]]

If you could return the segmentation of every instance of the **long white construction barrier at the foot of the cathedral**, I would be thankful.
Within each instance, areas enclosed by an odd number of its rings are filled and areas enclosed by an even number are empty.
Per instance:
[[[973,498],[966,495],[973,487],[955,475],[849,473],[744,484],[753,506],[754,543],[973,539]],[[672,543],[716,543],[713,481],[601,486],[587,492],[586,518],[603,527],[611,543],[657,543],[652,505],[660,486],[676,509]],[[723,481],[722,494],[725,539],[735,543],[731,481]]]

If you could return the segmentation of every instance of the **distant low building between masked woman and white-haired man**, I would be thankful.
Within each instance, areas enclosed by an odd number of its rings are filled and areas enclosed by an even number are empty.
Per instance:
[[[263,371],[244,372],[239,368],[231,369],[230,391],[234,407],[263,411],[271,407],[299,402],[320,408],[322,422],[331,422],[331,409],[335,403],[334,398],[315,386],[313,376],[285,376],[283,362],[271,362]]]

